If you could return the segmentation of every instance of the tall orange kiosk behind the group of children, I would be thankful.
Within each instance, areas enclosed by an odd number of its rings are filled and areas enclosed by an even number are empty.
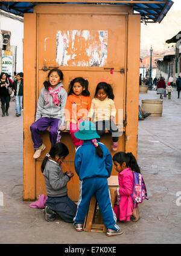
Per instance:
[[[78,4],[37,4],[33,13],[25,13],[24,200],[46,195],[40,165],[51,144],[48,131],[43,132],[46,149],[39,159],[33,159],[30,125],[34,122],[43,81],[51,68],[59,67],[63,71],[66,91],[72,78],[85,77],[91,99],[98,82],[112,85],[117,110],[115,121],[122,131],[118,151],[132,151],[137,155],[140,21],[140,15],[133,15],[131,7],[120,5],[84,4],[80,8]],[[74,171],[75,146],[68,131],[61,135],[61,142],[70,152],[65,163]],[[101,142],[113,154],[111,134],[104,134]],[[116,175],[114,169],[112,175]],[[69,197],[77,201],[76,173],[68,189]]]

